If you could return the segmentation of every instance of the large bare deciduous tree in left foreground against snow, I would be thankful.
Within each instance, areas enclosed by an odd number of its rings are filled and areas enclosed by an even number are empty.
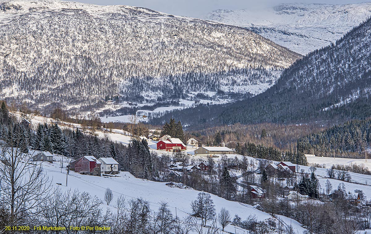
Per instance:
[[[9,225],[27,224],[50,196],[51,181],[28,153],[23,128],[18,123],[5,128],[0,141],[1,205],[10,210]]]

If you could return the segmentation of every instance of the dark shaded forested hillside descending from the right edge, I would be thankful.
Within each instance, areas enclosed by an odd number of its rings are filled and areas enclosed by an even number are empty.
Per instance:
[[[335,44],[297,60],[264,93],[230,105],[199,107],[181,121],[184,123],[187,118],[199,124],[207,122],[208,116],[212,116],[214,124],[367,118],[371,116],[370,47],[371,20],[368,20]],[[182,113],[172,114],[179,119]]]

